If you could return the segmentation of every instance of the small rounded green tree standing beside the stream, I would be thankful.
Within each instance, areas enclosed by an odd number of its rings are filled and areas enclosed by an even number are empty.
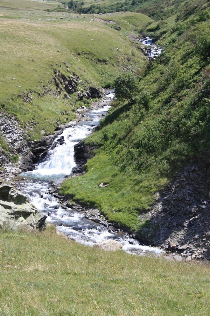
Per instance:
[[[114,81],[115,96],[118,100],[127,100],[133,104],[138,94],[138,80],[131,72],[124,72]]]

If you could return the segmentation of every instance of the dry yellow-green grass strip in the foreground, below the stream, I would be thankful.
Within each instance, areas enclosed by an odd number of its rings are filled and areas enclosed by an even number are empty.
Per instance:
[[[2,316],[207,316],[210,270],[104,252],[44,233],[0,233]]]

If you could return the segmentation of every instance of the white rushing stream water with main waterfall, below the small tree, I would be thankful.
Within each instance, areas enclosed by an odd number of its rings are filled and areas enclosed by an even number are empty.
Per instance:
[[[79,243],[93,246],[96,242],[108,239],[118,240],[122,249],[128,253],[143,255],[148,252],[160,254],[161,249],[140,245],[127,233],[112,231],[110,228],[85,218],[85,214],[62,205],[59,200],[50,193],[51,182],[62,181],[65,175],[72,172],[76,166],[74,160],[74,145],[89,135],[95,126],[99,124],[102,116],[106,115],[109,99],[114,98],[114,91],[106,95],[104,106],[96,110],[84,112],[90,120],[80,121],[75,126],[66,128],[58,137],[63,136],[64,143],[50,150],[43,162],[36,169],[23,174],[21,190],[26,193],[30,202],[45,214],[50,214],[47,221],[66,234],[70,239]],[[56,141],[56,140],[55,140]]]

